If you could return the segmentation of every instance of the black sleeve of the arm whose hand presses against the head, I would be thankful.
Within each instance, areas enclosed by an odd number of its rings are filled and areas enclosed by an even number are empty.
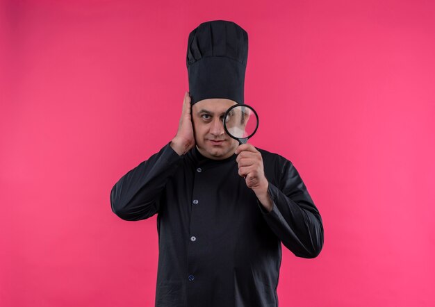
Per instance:
[[[158,213],[161,194],[182,158],[167,144],[122,176],[110,192],[113,213],[127,221],[147,219]]]

